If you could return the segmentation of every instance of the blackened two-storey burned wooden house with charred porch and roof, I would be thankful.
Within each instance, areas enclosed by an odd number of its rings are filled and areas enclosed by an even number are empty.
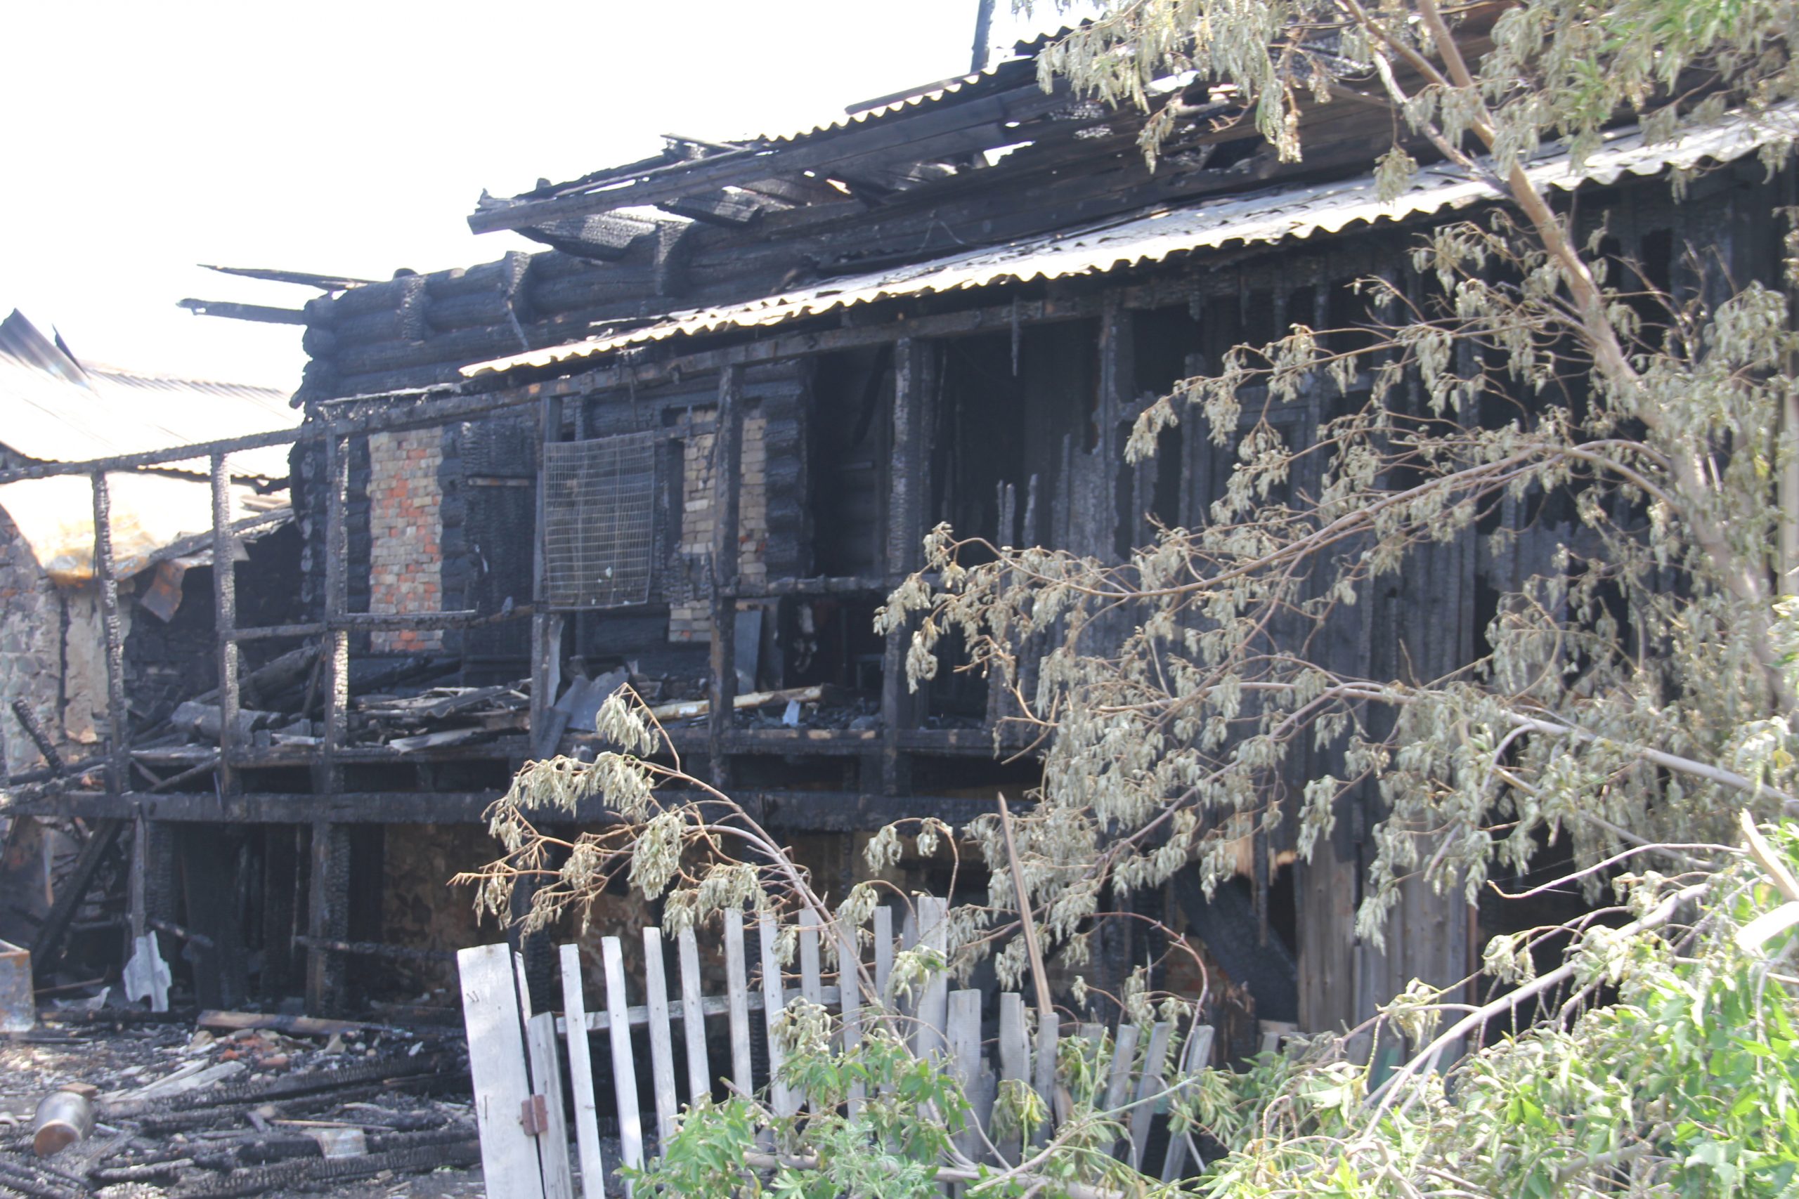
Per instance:
[[[547,248],[309,302],[297,431],[7,469],[210,453],[223,476],[227,455],[293,442],[295,613],[252,624],[216,581],[214,732],[144,750],[117,717],[106,784],[40,804],[185,830],[178,861],[142,865],[185,872],[185,906],[173,886],[142,902],[205,924],[196,980],[221,998],[304,983],[329,1007],[362,955],[443,985],[437,958],[479,937],[444,881],[489,856],[482,811],[522,760],[590,751],[594,706],[624,679],[691,768],[826,879],[853,877],[858,836],[894,818],[959,825],[1033,786],[1029,759],[995,753],[1004,710],[980,679],[944,672],[914,694],[901,638],[873,631],[923,534],[950,521],[1121,557],[1151,521],[1205,521],[1234,449],[1173,430],[1128,466],[1142,406],[1234,343],[1353,327],[1351,280],[1405,270],[1421,228],[1493,200],[1427,167],[1380,201],[1371,164],[1394,115],[1369,97],[1310,110],[1308,155],[1283,164],[1229,120],[1229,93],[1180,88],[1184,122],[1153,169],[1139,115],[1045,90],[1022,47],[829,126],[669,138],[482,198],[475,230]],[[1777,257],[1779,182],[1754,149],[1732,126],[1671,146],[1616,129],[1580,169],[1533,171],[1607,212],[1659,282],[1678,282],[1686,244],[1745,279]],[[1675,203],[1662,176],[1702,165]],[[1302,444],[1329,403],[1284,406],[1283,435]],[[1553,539],[1436,546],[1364,608],[1342,667],[1468,662],[1495,597]],[[214,555],[230,543],[221,525]],[[317,671],[252,697],[252,665],[295,653]],[[284,715],[245,721],[275,710],[273,690]],[[139,762],[162,782],[142,786]],[[1266,847],[1252,881],[1266,940],[1241,929],[1249,902],[1166,897],[1263,1017],[1355,1023],[1414,976],[1468,973],[1470,911],[1421,886],[1385,953],[1356,940],[1365,827],[1340,820],[1310,861]],[[234,901],[196,899],[212,893]],[[1114,964],[1141,956],[1132,935]]]

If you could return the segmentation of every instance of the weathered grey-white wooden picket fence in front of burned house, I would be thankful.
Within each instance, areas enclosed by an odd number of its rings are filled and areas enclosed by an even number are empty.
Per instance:
[[[574,1145],[581,1163],[581,1199],[603,1199],[606,1176],[619,1165],[601,1156],[599,1104],[594,1077],[590,1034],[604,1032],[610,1043],[612,1093],[619,1113],[619,1141],[624,1165],[642,1167],[646,1136],[639,1100],[637,1050],[633,1028],[642,1028],[649,1046],[649,1091],[655,1113],[657,1143],[673,1136],[680,1120],[680,1093],[687,1100],[711,1097],[714,1077],[729,1080],[739,1093],[750,1095],[768,1088],[768,1104],[779,1116],[795,1115],[808,1097],[783,1086],[781,1048],[774,1035],[775,1021],[784,1007],[804,998],[837,1010],[842,1017],[844,1048],[860,1043],[864,1019],[896,1017],[908,1030],[912,1052],[937,1055],[957,1079],[970,1098],[973,1118],[982,1129],[991,1129],[993,1102],[998,1080],[1015,1079],[1033,1086],[1045,1109],[1056,1109],[1056,1046],[1058,1021],[1052,1017],[1038,1028],[1031,1044],[1025,1025],[1025,1003],[1016,992],[998,996],[998,1026],[991,1039],[995,1064],[986,1057],[982,1039],[980,990],[950,990],[948,976],[928,976],[916,994],[900,1005],[887,1007],[878,996],[887,994],[896,951],[925,944],[946,946],[948,904],[943,899],[919,897],[916,911],[898,920],[892,908],[874,911],[873,958],[860,953],[847,929],[838,929],[826,917],[797,917],[797,974],[783,973],[775,951],[777,924],[768,913],[757,920],[759,962],[752,973],[745,949],[741,911],[727,911],[723,919],[723,973],[725,994],[707,996],[702,985],[700,938],[691,931],[675,938],[678,967],[678,998],[667,985],[666,938],[657,928],[644,928],[644,1001],[631,1005],[626,990],[624,949],[617,937],[601,938],[606,1005],[590,1010],[583,987],[581,956],[576,946],[561,946],[563,1014],[533,1012],[529,989],[524,981],[524,962],[504,944],[462,949],[457,965],[462,980],[462,1014],[468,1026],[470,1071],[475,1084],[475,1113],[480,1125],[482,1167],[489,1199],[574,1199],[574,1170],[568,1152],[570,1131],[567,1111],[574,1113]],[[862,965],[862,974],[874,983],[874,996],[860,985],[824,985],[820,947],[824,938],[838,940],[838,962]],[[858,971],[844,967],[840,978],[856,978]],[[754,981],[754,990],[752,990]],[[797,985],[795,985],[797,983]],[[858,1001],[860,998],[860,1001]],[[698,1017],[693,1017],[698,1014]],[[750,1021],[761,1019],[765,1028],[766,1061],[756,1062],[752,1053]],[[707,1023],[723,1021],[729,1032],[729,1062],[714,1068],[709,1050]],[[685,1088],[676,1084],[675,1025],[680,1025],[684,1043]],[[716,1023],[712,1025],[718,1026]],[[1169,1046],[1177,1030],[1166,1021],[1148,1030],[1137,1025],[1119,1025],[1106,1041],[1101,1025],[1079,1025],[1094,1052],[1108,1044],[1110,1062],[1096,1062],[1105,1079],[1105,1109],[1123,1107],[1135,1100],[1128,1116],[1128,1136],[1115,1147],[1119,1159],[1139,1170],[1148,1170],[1151,1124],[1157,1109],[1166,1107],[1159,1097],[1166,1091]],[[1148,1035],[1144,1035],[1148,1034]],[[567,1071],[561,1064],[558,1041],[567,1043]],[[1211,1057],[1213,1030],[1200,1026],[1187,1037],[1182,1070],[1195,1070]],[[761,1066],[761,1070],[757,1070]],[[563,1084],[568,1084],[568,1091]],[[572,1104],[565,1104],[565,1095]],[[856,1104],[860,1097],[851,1095]],[[1007,1145],[998,1143],[1002,1152]],[[970,1158],[980,1158],[979,1138],[964,1132],[959,1145]],[[1007,1156],[1016,1152],[1016,1136]],[[1180,1177],[1187,1167],[1186,1138],[1171,1138],[1160,1161],[1166,1181]],[[628,1194],[628,1188],[626,1188]]]

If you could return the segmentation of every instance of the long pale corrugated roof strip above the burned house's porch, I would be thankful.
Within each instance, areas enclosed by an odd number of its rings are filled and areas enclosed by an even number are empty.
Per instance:
[[[1630,128],[1607,135],[1601,149],[1590,155],[1580,169],[1572,169],[1567,153],[1558,151],[1538,158],[1529,173],[1540,187],[1572,191],[1589,182],[1612,183],[1624,174],[1660,174],[1668,169],[1696,167],[1702,162],[1732,162],[1767,144],[1792,140],[1795,135],[1799,135],[1799,108],[1792,106],[1761,113],[1756,119],[1736,115],[1713,126],[1687,129],[1678,140],[1653,146],[1644,144],[1641,129]],[[1169,255],[1193,250],[1274,244],[1313,234],[1337,234],[1358,223],[1401,221],[1466,209],[1495,198],[1495,191],[1486,183],[1446,167],[1421,171],[1412,185],[1391,203],[1378,198],[1373,174],[1333,183],[1268,189],[1247,196],[1209,200],[1189,209],[1159,209],[1135,218],[1114,218],[1065,234],[971,250],[889,271],[833,279],[813,288],[745,304],[671,313],[667,320],[630,333],[473,363],[462,367],[462,374],[549,367],[680,334],[775,325],[799,316],[817,316],[898,297],[946,293],[998,282],[1099,275],[1144,262],[1160,262]]]

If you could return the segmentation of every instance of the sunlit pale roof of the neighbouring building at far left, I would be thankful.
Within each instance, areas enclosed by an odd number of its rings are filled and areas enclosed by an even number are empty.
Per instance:
[[[83,365],[23,315],[13,313],[0,322],[0,444],[27,458],[108,458],[295,428],[300,417],[272,386]],[[207,467],[200,462],[196,469]],[[286,478],[288,448],[234,453],[230,469]]]

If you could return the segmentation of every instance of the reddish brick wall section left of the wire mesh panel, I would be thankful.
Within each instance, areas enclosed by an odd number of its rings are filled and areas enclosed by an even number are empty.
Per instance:
[[[369,435],[369,611],[443,611],[443,430]],[[439,649],[443,633],[369,636],[374,653]]]

